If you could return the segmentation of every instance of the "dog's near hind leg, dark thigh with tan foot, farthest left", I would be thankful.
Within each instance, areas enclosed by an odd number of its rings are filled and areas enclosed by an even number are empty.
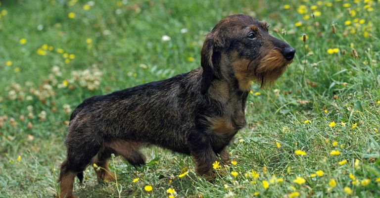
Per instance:
[[[61,165],[58,179],[60,198],[74,198],[72,191],[75,176],[81,179],[83,170],[99,151],[101,143],[91,133],[72,131],[68,134],[66,147],[67,158]]]

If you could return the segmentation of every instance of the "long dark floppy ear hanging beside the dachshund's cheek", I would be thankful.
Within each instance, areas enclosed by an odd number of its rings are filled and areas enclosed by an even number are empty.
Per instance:
[[[200,52],[200,65],[203,68],[200,92],[203,95],[207,93],[216,74],[216,70],[219,68],[220,51],[218,51],[218,49],[224,45],[221,38],[214,35],[216,34],[213,32],[207,35]]]

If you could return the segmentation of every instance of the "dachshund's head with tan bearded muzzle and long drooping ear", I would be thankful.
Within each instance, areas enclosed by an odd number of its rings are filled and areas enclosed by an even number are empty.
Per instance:
[[[215,78],[233,78],[240,90],[250,81],[271,84],[293,60],[295,49],[268,33],[266,22],[250,16],[228,16],[212,29],[201,50],[202,94]]]

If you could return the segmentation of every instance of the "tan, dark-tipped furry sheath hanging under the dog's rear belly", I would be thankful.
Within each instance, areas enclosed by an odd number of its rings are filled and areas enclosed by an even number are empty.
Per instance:
[[[142,166],[145,164],[145,156],[141,153],[139,148],[142,146],[142,143],[135,141],[125,141],[117,140],[104,144],[105,147],[115,150],[115,152],[130,164],[134,166]]]

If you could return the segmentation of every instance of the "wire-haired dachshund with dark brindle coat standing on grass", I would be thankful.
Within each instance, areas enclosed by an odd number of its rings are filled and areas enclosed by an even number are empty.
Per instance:
[[[228,16],[207,34],[201,67],[172,78],[85,99],[71,114],[60,169],[60,197],[72,195],[75,176],[92,163],[97,179],[114,180],[112,153],[140,166],[139,150],[156,145],[191,155],[196,172],[214,173],[212,163],[228,163],[229,145],[245,126],[251,81],[272,84],[292,62],[295,49],[268,33],[266,22]]]

